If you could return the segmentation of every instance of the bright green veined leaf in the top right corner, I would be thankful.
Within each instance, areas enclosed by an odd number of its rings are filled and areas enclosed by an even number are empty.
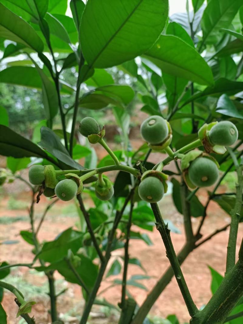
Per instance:
[[[230,25],[240,6],[241,0],[211,0],[204,10],[201,22],[203,40],[214,44],[221,37],[220,29]]]

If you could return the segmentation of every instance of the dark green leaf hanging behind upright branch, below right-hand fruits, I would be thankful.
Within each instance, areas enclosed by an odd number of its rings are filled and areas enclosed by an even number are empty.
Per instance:
[[[182,204],[181,204],[181,197],[180,197],[180,183],[175,178],[171,179],[171,182],[173,183],[173,201],[176,206],[176,209],[180,214],[182,213]],[[191,199],[191,215],[193,217],[199,217],[203,215],[204,207],[200,203],[199,199],[196,195],[194,195]]]

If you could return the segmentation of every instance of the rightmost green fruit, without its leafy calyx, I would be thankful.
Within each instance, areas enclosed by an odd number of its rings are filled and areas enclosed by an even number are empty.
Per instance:
[[[210,141],[214,145],[230,146],[238,139],[238,130],[231,121],[220,121],[209,132]]]

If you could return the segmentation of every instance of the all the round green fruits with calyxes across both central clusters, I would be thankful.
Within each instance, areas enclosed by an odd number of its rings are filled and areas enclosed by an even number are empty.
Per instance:
[[[88,138],[90,143],[100,143],[105,148],[108,146],[103,141],[105,135],[104,127],[100,131],[97,121],[91,117],[84,118],[79,125],[79,132]],[[172,155],[174,152],[169,148],[172,139],[172,131],[170,124],[161,116],[150,116],[141,125],[141,134],[148,146],[155,151],[166,151]],[[222,145],[233,145],[238,138],[236,126],[230,121],[214,122],[204,124],[199,130],[199,145],[203,145],[204,151],[189,148],[189,153],[180,154],[181,171],[188,187],[194,189],[196,187],[207,187],[214,184],[218,178],[217,161],[209,155],[211,152],[224,153],[225,148]],[[200,142],[201,141],[201,142]],[[108,148],[108,152],[110,149]],[[109,152],[111,155],[112,152]],[[115,157],[113,155],[113,159]],[[162,167],[161,167],[162,166]],[[166,180],[168,177],[162,172],[163,164],[146,171],[141,178],[138,187],[139,197],[149,203],[156,203],[162,199],[167,191]],[[98,179],[94,185],[96,196],[100,200],[109,200],[114,189],[111,181],[103,177],[98,172]],[[42,185],[44,187],[44,195],[52,197],[56,195],[63,201],[73,199],[77,194],[83,191],[82,176],[67,173],[64,176],[67,179],[58,181],[56,171],[53,166],[35,165],[29,169],[29,181],[34,185]]]

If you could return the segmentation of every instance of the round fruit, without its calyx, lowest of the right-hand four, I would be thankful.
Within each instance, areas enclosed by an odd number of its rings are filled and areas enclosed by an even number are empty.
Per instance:
[[[165,193],[162,182],[156,177],[147,177],[141,181],[138,194],[147,203],[159,202]]]

